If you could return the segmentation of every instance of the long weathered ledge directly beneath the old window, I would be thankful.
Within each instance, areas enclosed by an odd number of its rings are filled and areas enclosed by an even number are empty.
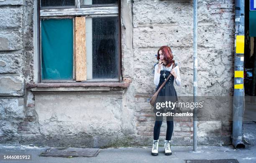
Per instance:
[[[32,92],[115,92],[123,93],[130,83],[28,83],[26,89]]]

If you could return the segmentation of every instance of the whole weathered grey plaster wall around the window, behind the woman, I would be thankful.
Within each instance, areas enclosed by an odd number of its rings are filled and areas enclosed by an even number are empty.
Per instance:
[[[179,64],[178,96],[193,94],[192,0],[121,0],[122,75],[128,89],[113,94],[71,92],[43,94],[25,89],[36,81],[33,47],[33,0],[0,2],[0,143],[47,146],[151,145],[154,114],[155,54],[169,45]],[[198,1],[198,94],[229,96],[233,92],[234,1]],[[35,50],[34,50],[35,49]],[[51,91],[50,91],[51,92]],[[64,93],[63,93],[64,92]],[[94,92],[94,93],[93,93]],[[114,90],[115,92],[115,90]],[[100,109],[99,106],[103,105]],[[92,111],[96,107],[97,110]],[[199,144],[229,144],[227,121],[198,123]],[[105,113],[96,116],[99,111]],[[77,115],[77,116],[76,116]],[[173,145],[192,145],[191,119],[175,119]],[[165,138],[163,123],[160,139]]]

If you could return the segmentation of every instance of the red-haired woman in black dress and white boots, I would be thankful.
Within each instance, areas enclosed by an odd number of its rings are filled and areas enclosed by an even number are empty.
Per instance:
[[[168,46],[160,47],[160,49],[157,52],[157,59],[159,60],[159,62],[155,66],[155,73],[154,73],[154,84],[157,86],[156,90],[168,78],[169,74],[172,74],[172,76],[168,79],[164,87],[159,91],[158,97],[164,96],[168,98],[172,96],[177,98],[177,93],[174,88],[174,81],[177,84],[177,86],[180,86],[181,79],[179,74],[179,66],[175,64],[175,61],[173,60],[173,58],[174,57],[172,54],[172,50]],[[151,151],[151,154],[153,156],[158,155],[158,143],[159,143],[159,135],[160,135],[160,128],[161,128],[162,122],[163,122],[163,116],[156,115],[156,121],[154,126],[154,141],[153,141],[153,147]],[[173,116],[166,116],[166,123],[167,123],[167,130],[166,130],[166,140],[164,141],[164,153],[165,155],[171,155],[172,151],[170,148],[170,142],[171,142],[173,126],[174,126]]]

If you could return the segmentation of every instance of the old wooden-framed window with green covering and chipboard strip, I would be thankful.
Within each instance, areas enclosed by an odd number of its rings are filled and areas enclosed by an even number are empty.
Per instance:
[[[120,81],[118,0],[41,0],[41,82]]]

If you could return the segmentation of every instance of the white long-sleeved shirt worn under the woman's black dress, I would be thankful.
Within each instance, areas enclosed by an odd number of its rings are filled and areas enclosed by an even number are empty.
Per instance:
[[[172,69],[171,67],[172,67],[172,65],[170,67],[168,67],[166,69],[166,71],[170,72],[171,69]],[[175,73],[177,75],[176,79],[174,79],[175,83],[177,84],[177,86],[181,86],[181,79],[180,79],[180,74],[179,74],[179,66],[176,66],[173,69],[174,69],[174,71],[175,71]],[[161,75],[161,74],[157,73],[157,70],[158,70],[158,64],[156,64],[156,66],[155,66],[155,74],[154,74],[154,84],[156,86],[158,86],[158,84],[159,84],[160,75]],[[161,70],[164,70],[164,65],[163,64],[161,65]]]

